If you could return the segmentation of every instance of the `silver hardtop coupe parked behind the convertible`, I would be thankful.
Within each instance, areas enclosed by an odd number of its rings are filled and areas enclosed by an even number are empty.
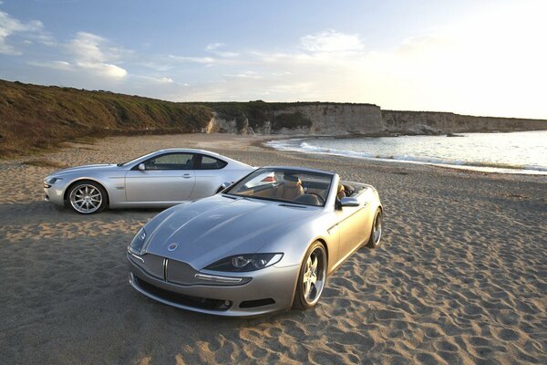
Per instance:
[[[211,196],[255,168],[211,151],[169,149],[135,160],[60,170],[44,179],[45,200],[81,214],[168,207]]]

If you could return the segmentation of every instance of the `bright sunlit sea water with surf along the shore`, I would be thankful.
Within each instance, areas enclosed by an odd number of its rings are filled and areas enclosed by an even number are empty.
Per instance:
[[[434,164],[482,172],[547,175],[547,130],[458,135],[460,137],[320,137],[269,141],[267,145],[284,151]]]

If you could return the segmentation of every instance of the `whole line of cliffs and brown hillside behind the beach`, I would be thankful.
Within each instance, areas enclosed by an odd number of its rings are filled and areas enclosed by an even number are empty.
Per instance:
[[[379,136],[513,130],[547,130],[547,120],[381,110],[373,104],[331,102],[178,103],[0,80],[0,157],[111,134]]]

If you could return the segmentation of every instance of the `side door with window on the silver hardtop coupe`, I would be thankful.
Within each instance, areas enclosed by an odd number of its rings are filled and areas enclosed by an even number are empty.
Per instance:
[[[193,153],[168,152],[142,162],[126,173],[129,203],[176,203],[190,199],[195,184]]]

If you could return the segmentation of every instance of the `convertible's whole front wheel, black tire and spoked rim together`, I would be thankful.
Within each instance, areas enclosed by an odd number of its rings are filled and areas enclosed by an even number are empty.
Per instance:
[[[314,265],[315,271],[313,269]],[[300,266],[298,282],[294,291],[293,308],[305,310],[315,307],[325,287],[326,267],[327,257],[325,246],[319,241],[315,241],[307,249]]]

